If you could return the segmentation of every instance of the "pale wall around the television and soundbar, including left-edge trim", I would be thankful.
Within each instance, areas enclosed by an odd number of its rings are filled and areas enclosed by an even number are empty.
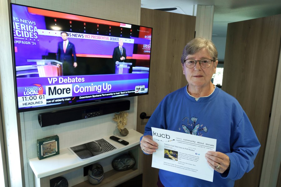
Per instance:
[[[112,21],[140,24],[141,0],[12,0],[12,2]],[[29,187],[33,186],[33,172],[28,165],[28,159],[36,157],[37,139],[58,135],[62,149],[88,140],[97,140],[117,131],[116,123],[112,120],[114,114],[41,128],[37,120],[38,113],[58,109],[16,113],[8,7],[9,0],[2,0],[0,8],[0,102],[3,113],[7,173],[9,186],[25,185]],[[137,98],[129,100],[131,109],[128,111],[127,128],[136,129]],[[59,110],[61,109],[63,108]]]

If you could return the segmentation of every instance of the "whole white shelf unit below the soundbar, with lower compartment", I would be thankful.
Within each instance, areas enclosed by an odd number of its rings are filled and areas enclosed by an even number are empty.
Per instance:
[[[111,135],[110,135],[111,136]],[[99,185],[95,186],[116,186],[129,180],[137,175],[142,173],[141,160],[142,160],[142,151],[139,148],[141,133],[135,130],[129,130],[127,136],[118,136],[123,140],[129,142],[129,145],[122,145],[118,142],[115,142],[109,139],[110,136],[106,136],[103,139],[110,142],[112,145],[116,146],[117,149],[96,155],[90,159],[80,160],[76,155],[74,155],[68,148],[61,149],[60,154],[52,156],[43,160],[39,160],[37,157],[29,160],[29,165],[33,170],[35,176],[36,186],[50,186],[50,179],[64,175],[71,171],[83,168],[87,165],[91,165],[98,161],[104,160],[106,158],[116,156],[126,151],[133,151],[136,159],[136,165],[133,169],[127,171],[115,171],[110,170],[105,173],[104,180]],[[117,136],[117,135],[116,135]],[[89,186],[88,181],[84,181],[80,184],[74,186]]]

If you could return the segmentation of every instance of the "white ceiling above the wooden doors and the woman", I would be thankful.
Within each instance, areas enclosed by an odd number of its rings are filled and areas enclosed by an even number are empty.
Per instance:
[[[193,14],[197,4],[215,6],[213,37],[226,37],[230,22],[281,14],[281,0],[141,0],[143,8],[176,7],[173,12],[187,15]]]

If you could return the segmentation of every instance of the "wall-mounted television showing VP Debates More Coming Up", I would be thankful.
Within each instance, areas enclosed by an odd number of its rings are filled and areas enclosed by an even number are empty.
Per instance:
[[[148,94],[152,28],[11,3],[17,112]]]

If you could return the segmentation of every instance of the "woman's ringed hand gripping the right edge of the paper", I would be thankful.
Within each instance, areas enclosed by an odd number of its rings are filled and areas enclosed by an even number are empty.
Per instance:
[[[208,151],[205,154],[205,158],[208,164],[219,173],[224,173],[230,165],[229,157],[221,152]]]

